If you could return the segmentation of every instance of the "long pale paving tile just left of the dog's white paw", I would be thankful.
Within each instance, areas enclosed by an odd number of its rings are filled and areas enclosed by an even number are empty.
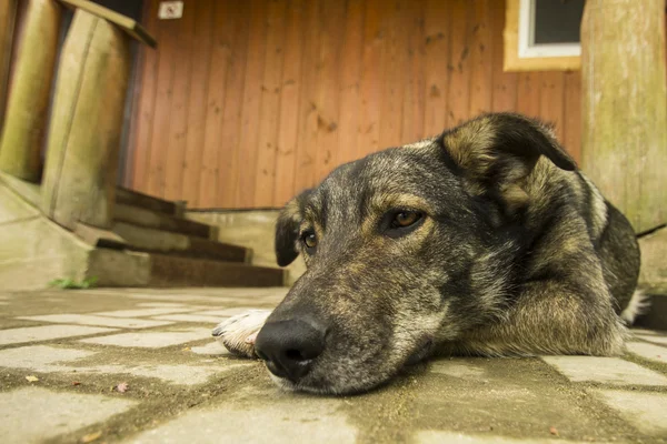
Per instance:
[[[123,347],[161,349],[211,336],[209,329],[191,329],[180,332],[133,332],[82,340],[87,344],[117,345]]]

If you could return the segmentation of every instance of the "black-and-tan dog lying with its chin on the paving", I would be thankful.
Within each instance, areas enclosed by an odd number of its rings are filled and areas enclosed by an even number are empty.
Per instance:
[[[213,336],[307,392],[362,392],[436,354],[615,355],[644,302],[626,218],[509,113],[339,167],[281,211],[276,254],[306,273]]]

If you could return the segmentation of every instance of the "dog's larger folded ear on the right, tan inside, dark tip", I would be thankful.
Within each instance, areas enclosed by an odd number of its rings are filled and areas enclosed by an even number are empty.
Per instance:
[[[442,144],[470,191],[500,195],[510,213],[528,202],[522,184],[540,155],[577,168],[547,127],[519,114],[482,115],[445,132]]]

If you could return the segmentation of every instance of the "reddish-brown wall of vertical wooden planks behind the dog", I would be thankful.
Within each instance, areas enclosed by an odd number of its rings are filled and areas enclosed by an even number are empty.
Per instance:
[[[502,72],[498,0],[185,0],[145,24],[126,183],[193,208],[280,206],[336,165],[484,111],[556,124],[579,73]]]

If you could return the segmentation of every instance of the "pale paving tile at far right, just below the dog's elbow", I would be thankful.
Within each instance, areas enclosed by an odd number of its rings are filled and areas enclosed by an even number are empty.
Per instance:
[[[619,357],[542,356],[571,382],[611,385],[667,385],[667,377]]]

